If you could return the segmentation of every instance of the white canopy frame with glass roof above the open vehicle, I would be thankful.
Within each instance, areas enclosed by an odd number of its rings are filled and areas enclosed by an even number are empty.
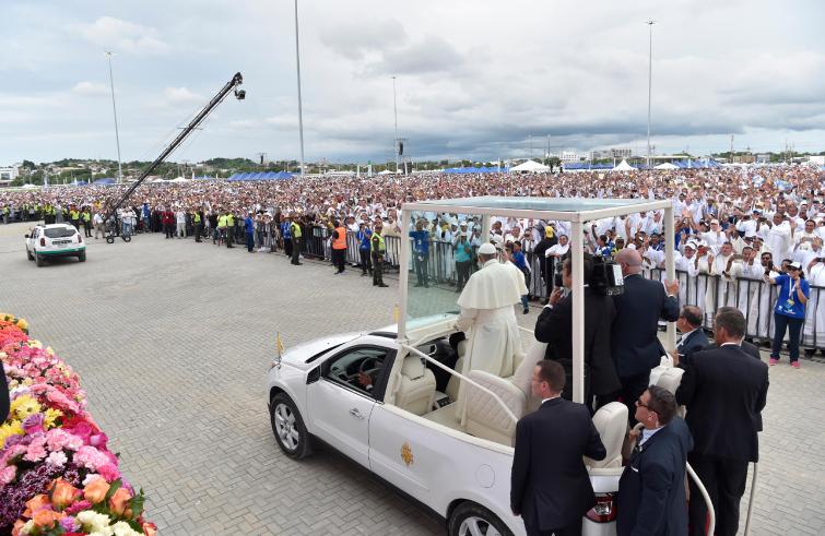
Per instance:
[[[416,201],[401,205],[401,296],[399,303],[398,341],[400,344],[409,344],[406,341],[406,307],[408,283],[411,249],[409,245],[410,223],[413,212],[453,212],[462,214],[479,214],[486,216],[514,216],[517,218],[533,219],[561,219],[570,222],[571,237],[570,254],[573,262],[573,288],[579,291],[573,293],[573,400],[584,403],[585,401],[585,271],[582,265],[584,245],[580,237],[584,236],[584,223],[593,219],[622,216],[646,211],[664,211],[664,266],[665,277],[675,279],[673,251],[675,250],[675,236],[673,234],[673,205],[669,200],[650,201],[647,199],[563,199],[563,198],[467,198],[436,201]],[[667,225],[667,223],[670,223]],[[486,226],[485,226],[486,227]],[[488,233],[484,229],[484,233]],[[487,235],[484,235],[485,237]],[[675,346],[676,327],[673,322],[668,323],[664,347],[672,350]]]

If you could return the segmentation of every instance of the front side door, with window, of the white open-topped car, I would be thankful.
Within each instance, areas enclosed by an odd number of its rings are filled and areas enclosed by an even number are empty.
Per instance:
[[[313,433],[369,467],[369,417],[386,386],[385,366],[394,350],[351,346],[321,365],[317,381],[307,385],[307,415]],[[372,388],[358,381],[360,370],[372,372]]]

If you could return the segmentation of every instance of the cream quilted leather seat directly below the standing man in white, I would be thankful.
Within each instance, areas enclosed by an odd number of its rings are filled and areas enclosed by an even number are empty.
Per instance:
[[[516,419],[525,415],[527,397],[509,380],[484,372],[471,370],[465,374],[470,380],[495,393]],[[472,383],[467,383],[465,429],[476,438],[488,439],[512,446],[516,436],[516,421],[507,415],[500,404]]]

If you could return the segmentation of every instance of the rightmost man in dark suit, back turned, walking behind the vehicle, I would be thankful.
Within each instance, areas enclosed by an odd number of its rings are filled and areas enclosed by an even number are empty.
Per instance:
[[[739,529],[747,463],[759,460],[757,431],[768,394],[767,365],[740,347],[745,325],[739,309],[719,308],[714,319],[718,348],[694,354],[676,391],[695,441],[687,461],[710,495],[719,536]],[[691,483],[691,497],[698,493]],[[705,504],[692,500],[691,534],[705,534],[706,517]]]

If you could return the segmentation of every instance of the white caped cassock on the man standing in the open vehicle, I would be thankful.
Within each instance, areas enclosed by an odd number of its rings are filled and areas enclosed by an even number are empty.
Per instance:
[[[512,306],[521,301],[521,293],[527,294],[521,272],[495,259],[470,276],[458,298],[461,313],[456,322],[468,338],[463,371],[512,376],[516,356],[522,352]]]

